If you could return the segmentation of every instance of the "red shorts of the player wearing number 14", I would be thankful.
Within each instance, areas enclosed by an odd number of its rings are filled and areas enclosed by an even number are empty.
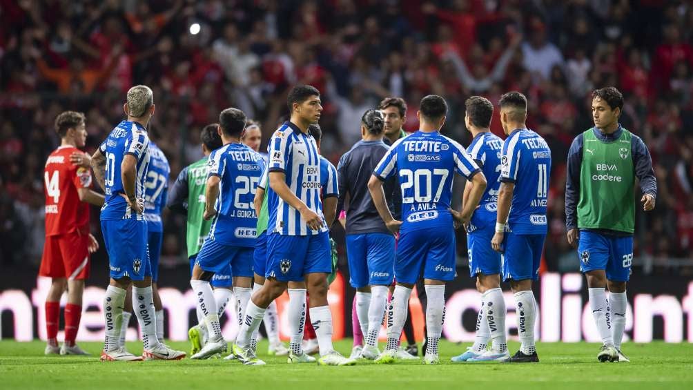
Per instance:
[[[48,236],[40,276],[86,279],[89,277],[89,234],[73,232]]]

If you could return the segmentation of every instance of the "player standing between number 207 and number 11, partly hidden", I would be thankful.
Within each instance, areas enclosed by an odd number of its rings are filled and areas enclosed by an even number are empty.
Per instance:
[[[510,357],[505,337],[505,300],[500,290],[500,254],[491,248],[495,227],[495,210],[500,187],[500,158],[503,140],[489,130],[493,116],[493,104],[489,99],[472,96],[464,103],[464,122],[473,139],[467,148],[472,159],[482,168],[488,181],[479,209],[474,211],[467,227],[467,254],[469,276],[476,278],[477,290],[482,294],[481,308],[477,316],[474,345],[453,357],[453,362],[492,361]],[[469,190],[464,188],[462,204]],[[486,351],[489,339],[493,349]]]

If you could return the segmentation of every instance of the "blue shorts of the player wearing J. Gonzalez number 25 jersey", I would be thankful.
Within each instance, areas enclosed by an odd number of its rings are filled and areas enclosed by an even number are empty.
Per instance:
[[[214,272],[212,285],[231,285],[231,276],[253,277],[253,251],[253,248],[224,245],[207,239],[195,263],[205,271]]]

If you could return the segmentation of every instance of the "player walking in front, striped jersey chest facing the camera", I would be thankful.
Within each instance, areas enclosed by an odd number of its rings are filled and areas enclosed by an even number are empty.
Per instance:
[[[248,303],[234,353],[246,364],[258,364],[250,348],[252,333],[265,308],[286,290],[288,282],[306,281],[310,317],[317,333],[319,363],[352,365],[332,346],[332,314],[327,303],[327,275],[332,272],[328,229],[323,215],[320,159],[308,127],[322,113],[320,93],[310,85],[294,87],[288,95],[290,121],[270,140],[270,188],[267,223],[265,284]]]

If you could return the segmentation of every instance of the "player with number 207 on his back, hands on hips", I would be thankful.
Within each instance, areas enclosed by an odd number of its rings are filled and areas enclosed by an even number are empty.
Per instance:
[[[399,139],[380,160],[368,182],[380,218],[392,233],[399,233],[392,294],[387,323],[387,346],[376,362],[394,360],[402,333],[409,296],[422,276],[426,285],[427,346],[424,364],[438,364],[438,341],[443,330],[445,284],[455,278],[453,218],[467,223],[486,188],[486,179],[462,145],[440,134],[448,104],[440,96],[421,100],[416,116],[419,131]],[[453,176],[466,177],[471,190],[462,213],[451,212]],[[392,218],[383,181],[398,175],[402,188],[402,220]]]

